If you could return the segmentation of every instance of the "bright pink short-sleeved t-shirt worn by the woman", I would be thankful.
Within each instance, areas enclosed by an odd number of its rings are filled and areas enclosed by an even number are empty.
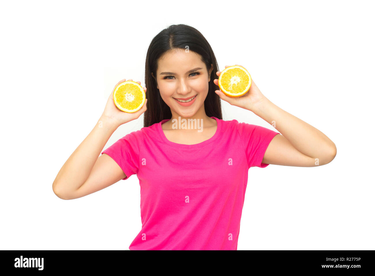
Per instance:
[[[121,167],[123,180],[139,179],[142,228],[130,250],[237,250],[249,168],[269,165],[263,156],[279,133],[211,118],[216,133],[202,143],[169,141],[165,119],[102,152]]]

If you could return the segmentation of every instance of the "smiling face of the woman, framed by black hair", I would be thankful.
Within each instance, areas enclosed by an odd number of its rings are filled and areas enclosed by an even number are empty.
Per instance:
[[[192,117],[201,108],[208,93],[208,74],[201,57],[193,51],[183,49],[168,51],[158,60],[156,71],[157,88],[171,112],[184,118]],[[191,103],[178,103],[177,99],[194,97]],[[202,111],[202,110],[200,110]]]

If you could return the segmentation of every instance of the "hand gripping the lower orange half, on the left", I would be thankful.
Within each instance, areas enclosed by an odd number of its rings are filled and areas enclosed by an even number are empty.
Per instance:
[[[132,80],[132,79],[129,79],[129,80]],[[115,87],[113,88],[113,90],[110,94],[110,97],[108,97],[107,104],[105,105],[104,112],[102,114],[103,118],[109,118],[110,120],[113,120],[114,124],[116,124],[118,126],[122,125],[122,124],[125,124],[127,122],[130,122],[130,121],[133,121],[135,119],[138,119],[139,116],[141,116],[141,114],[143,112],[145,112],[146,109],[147,109],[147,107],[146,107],[147,99],[145,100],[141,109],[139,109],[138,111],[133,112],[133,113],[123,112],[123,111],[121,111],[120,109],[117,108],[117,106],[115,105],[114,100],[113,100],[113,92],[114,92],[115,88],[117,87],[117,85],[124,82],[124,81],[125,81],[125,79],[120,80],[115,85]],[[136,81],[136,82],[141,84],[140,81]],[[144,92],[146,92],[147,88],[143,87],[143,89],[144,89]]]

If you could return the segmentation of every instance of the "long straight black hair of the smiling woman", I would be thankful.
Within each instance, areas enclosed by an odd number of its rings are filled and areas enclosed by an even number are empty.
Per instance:
[[[204,110],[208,117],[216,117],[222,119],[220,97],[215,93],[219,88],[214,84],[213,80],[217,78],[218,70],[216,57],[212,48],[204,36],[195,28],[184,25],[171,25],[158,33],[151,41],[147,50],[145,64],[145,86],[147,98],[147,110],[143,113],[143,126],[149,127],[163,119],[171,119],[172,113],[170,107],[163,101],[160,96],[159,89],[156,87],[157,60],[169,50],[183,49],[193,51],[201,56],[202,62],[205,63],[207,71],[211,69],[210,82],[208,83],[208,94],[204,100]]]

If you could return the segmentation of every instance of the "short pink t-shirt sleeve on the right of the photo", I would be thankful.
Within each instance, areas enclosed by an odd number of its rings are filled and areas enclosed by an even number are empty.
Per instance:
[[[269,164],[262,163],[264,154],[273,137],[280,133],[260,125],[246,123],[238,123],[237,130],[245,149],[249,169],[250,167],[267,167]]]

